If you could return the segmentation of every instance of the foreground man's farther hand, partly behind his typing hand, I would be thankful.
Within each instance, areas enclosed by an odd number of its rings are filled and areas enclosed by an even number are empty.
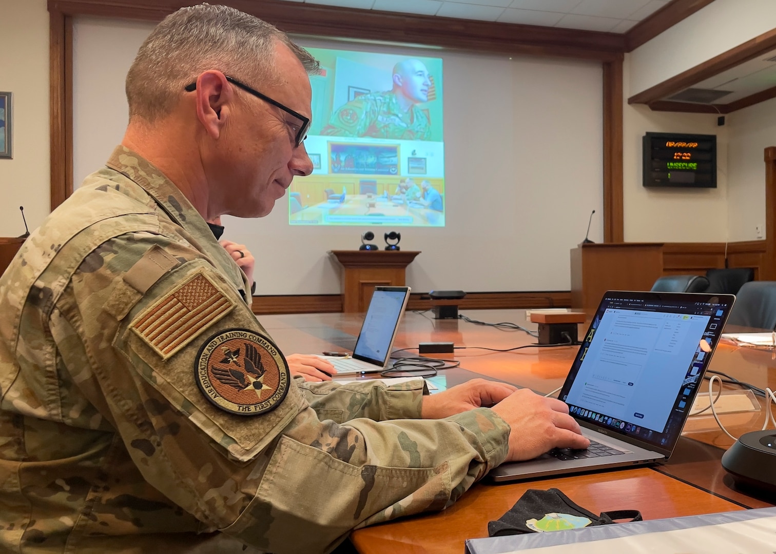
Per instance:
[[[518,390],[516,386],[486,379],[472,379],[466,383],[423,397],[421,417],[442,419],[474,408],[490,407]]]

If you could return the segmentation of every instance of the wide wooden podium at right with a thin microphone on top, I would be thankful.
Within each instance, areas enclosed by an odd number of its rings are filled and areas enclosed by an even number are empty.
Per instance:
[[[650,290],[663,275],[663,243],[580,244],[571,249],[571,306],[595,310],[608,290]]]

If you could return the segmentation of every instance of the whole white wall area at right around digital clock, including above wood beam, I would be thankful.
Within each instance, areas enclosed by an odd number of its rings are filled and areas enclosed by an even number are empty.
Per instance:
[[[765,220],[763,150],[776,144],[773,100],[726,116],[660,113],[629,96],[776,28],[773,0],[715,0],[625,55],[623,180],[626,241],[751,241]],[[717,135],[717,189],[644,189],[646,131]],[[700,214],[700,216],[698,216]],[[771,230],[773,232],[773,230]]]

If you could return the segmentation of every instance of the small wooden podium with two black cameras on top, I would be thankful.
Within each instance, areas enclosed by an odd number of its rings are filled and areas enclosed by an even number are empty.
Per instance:
[[[365,312],[375,286],[404,286],[407,265],[420,252],[404,250],[332,250],[345,268],[342,311]]]

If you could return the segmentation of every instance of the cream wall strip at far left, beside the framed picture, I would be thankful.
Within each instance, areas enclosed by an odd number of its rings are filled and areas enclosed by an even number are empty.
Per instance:
[[[0,158],[0,237],[49,213],[49,26],[46,0],[0,0],[0,91],[12,92],[12,155]]]

